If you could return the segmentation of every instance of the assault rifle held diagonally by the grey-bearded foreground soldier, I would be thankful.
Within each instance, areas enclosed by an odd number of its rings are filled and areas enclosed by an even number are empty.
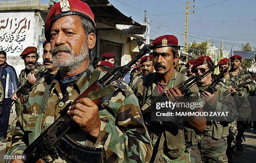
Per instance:
[[[139,38],[136,40],[138,47],[144,44],[143,48],[140,49],[140,52],[128,64],[121,67],[114,66],[101,79],[91,84],[73,102],[69,102],[69,104],[60,111],[59,118],[25,149],[23,154],[26,154],[27,162],[35,163],[50,153],[51,158],[53,159],[58,158],[57,153],[63,153],[73,162],[77,163],[102,163],[106,161],[104,148],[83,146],[70,138],[68,133],[71,123],[74,122],[72,122],[70,116],[67,115],[67,111],[69,106],[75,104],[83,97],[88,97],[95,104],[98,104],[98,102],[105,96],[103,95],[104,92],[113,92],[118,89],[113,86],[113,83],[120,83],[123,77],[125,77],[125,74],[130,71],[132,65],[144,54],[149,53],[153,47],[152,44],[146,45]],[[101,94],[101,96],[99,96],[99,94]]]

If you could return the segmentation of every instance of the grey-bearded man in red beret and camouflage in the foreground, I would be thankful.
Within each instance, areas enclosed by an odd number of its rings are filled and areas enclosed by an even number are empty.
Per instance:
[[[23,153],[27,142],[31,143],[59,118],[59,110],[64,109],[90,84],[104,75],[93,69],[89,60],[91,49],[96,44],[95,27],[92,10],[84,1],[60,0],[51,7],[46,17],[44,33],[51,44],[53,62],[59,67],[59,71],[54,78],[34,86],[28,95],[23,114],[13,133],[13,142],[18,143],[12,144],[8,154]],[[71,121],[76,124],[67,133],[69,137],[79,143],[81,148],[84,145],[100,148],[101,156],[96,158],[94,154],[87,153],[87,158],[84,158],[81,153],[74,152],[77,149],[72,153],[63,153],[67,149],[63,144],[64,147],[54,147],[61,148],[56,150],[56,154],[49,151],[49,156],[42,159],[58,163],[73,162],[70,157],[75,157],[78,162],[84,159],[91,160],[86,160],[87,162],[98,162],[100,158],[108,163],[148,162],[152,145],[138,107],[138,99],[125,82],[120,81],[119,85],[115,91],[104,89],[107,96],[102,97],[102,91],[96,93],[95,98],[102,99],[98,104],[84,97],[67,111]],[[20,161],[16,161],[18,162]]]

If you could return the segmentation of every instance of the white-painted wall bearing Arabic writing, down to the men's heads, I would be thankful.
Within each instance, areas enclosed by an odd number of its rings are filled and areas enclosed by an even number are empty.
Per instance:
[[[17,75],[25,68],[19,57],[26,47],[38,48],[41,22],[35,12],[0,13],[0,50],[7,53],[7,63],[13,66]]]

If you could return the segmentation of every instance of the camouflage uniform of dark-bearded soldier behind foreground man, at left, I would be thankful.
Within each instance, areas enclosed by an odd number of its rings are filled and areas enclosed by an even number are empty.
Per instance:
[[[36,74],[38,72],[40,72],[41,70],[44,70],[44,66],[42,66],[40,63],[37,64],[37,67],[35,69],[33,69],[31,71],[31,73]],[[23,86],[26,82],[27,82],[27,77],[28,74],[26,74],[25,69],[21,70],[18,81],[19,81],[19,86],[18,89],[20,88],[20,86]],[[39,78],[38,78],[39,79]],[[37,79],[37,80],[38,80]],[[17,89],[17,90],[18,90]],[[14,93],[17,91],[15,90]],[[27,95],[24,95],[23,98],[24,100],[26,99]],[[11,143],[12,143],[12,135],[13,135],[13,131],[15,129],[16,126],[16,122],[18,121],[18,118],[20,116],[20,112],[23,110],[23,104],[20,103],[20,99],[18,99],[15,102],[15,112],[16,112],[16,118],[13,120],[13,122],[11,123],[10,127],[8,128],[7,131],[7,143],[6,143],[6,149],[5,151],[8,151],[10,149]]]

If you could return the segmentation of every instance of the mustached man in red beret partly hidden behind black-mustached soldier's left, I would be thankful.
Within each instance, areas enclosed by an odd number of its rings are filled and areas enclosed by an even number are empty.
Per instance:
[[[140,64],[142,72],[133,77],[131,81],[131,88],[133,88],[134,84],[138,81],[140,77],[150,74],[154,71],[152,55],[142,57]]]

